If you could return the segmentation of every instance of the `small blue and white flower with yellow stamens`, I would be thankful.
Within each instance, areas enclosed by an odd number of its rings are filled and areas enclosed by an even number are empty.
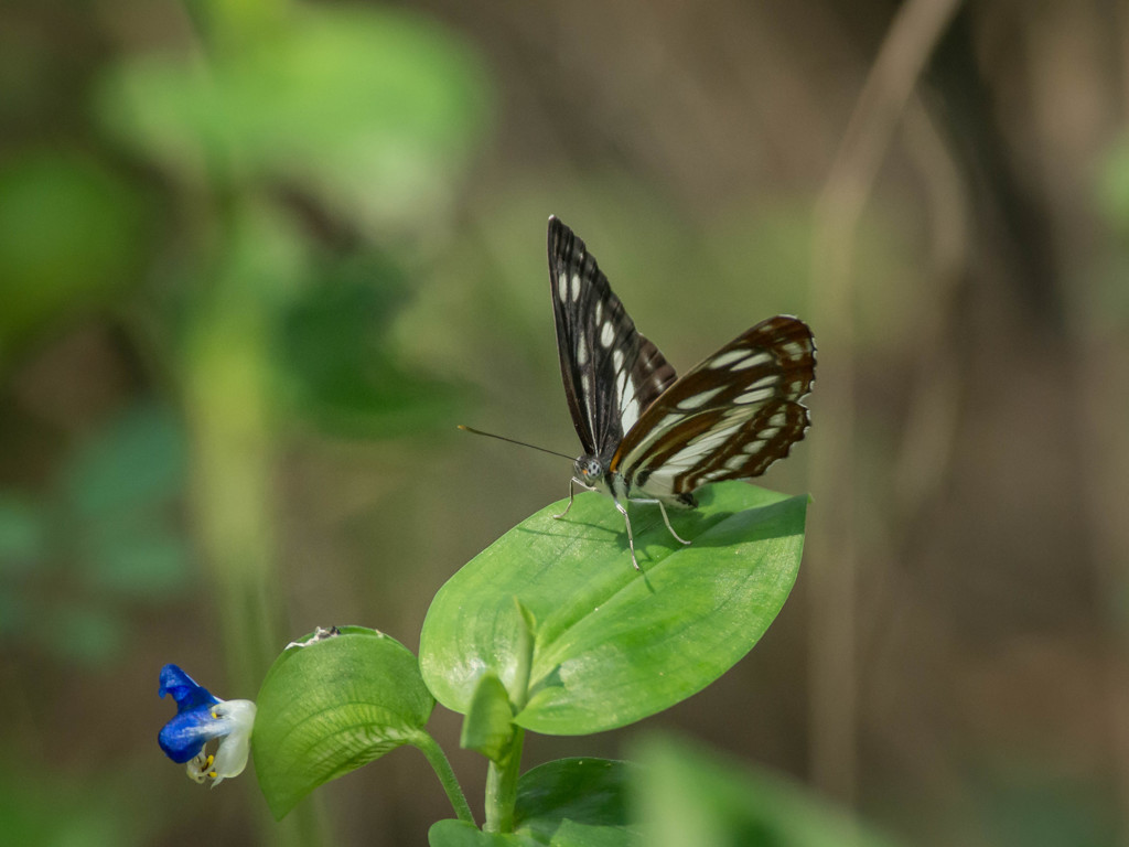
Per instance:
[[[176,717],[157,736],[165,756],[177,765],[187,762],[189,777],[198,783],[210,779],[216,786],[242,774],[251,750],[255,704],[221,700],[172,664],[160,669],[160,696],[165,695],[176,700]],[[216,739],[219,744],[212,754],[204,745]]]

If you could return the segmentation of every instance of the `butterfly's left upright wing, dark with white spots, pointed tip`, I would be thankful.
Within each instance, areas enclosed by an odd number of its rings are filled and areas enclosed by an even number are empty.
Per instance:
[[[675,378],[636,330],[596,260],[549,219],[549,278],[564,395],[586,455],[610,457],[624,433]]]

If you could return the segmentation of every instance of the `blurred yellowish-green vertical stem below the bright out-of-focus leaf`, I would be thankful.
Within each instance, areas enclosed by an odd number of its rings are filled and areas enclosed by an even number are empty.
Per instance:
[[[273,495],[270,325],[245,256],[250,212],[226,208],[222,236],[187,322],[184,405],[192,500],[209,566],[230,682],[254,691],[283,643]]]

